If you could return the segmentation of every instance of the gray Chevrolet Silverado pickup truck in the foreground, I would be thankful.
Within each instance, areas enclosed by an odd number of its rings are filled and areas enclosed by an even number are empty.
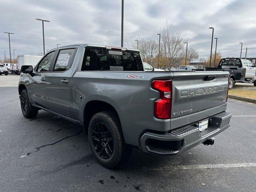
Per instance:
[[[92,153],[108,168],[132,148],[175,155],[230,126],[228,72],[145,72],[138,50],[76,44],[22,66],[22,113],[45,110],[84,127]]]

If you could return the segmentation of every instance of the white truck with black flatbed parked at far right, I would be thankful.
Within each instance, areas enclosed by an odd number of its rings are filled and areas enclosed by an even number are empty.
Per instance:
[[[229,89],[236,82],[253,83],[256,86],[256,67],[250,60],[241,58],[223,58],[217,68],[206,67],[208,70],[224,70],[229,72]]]

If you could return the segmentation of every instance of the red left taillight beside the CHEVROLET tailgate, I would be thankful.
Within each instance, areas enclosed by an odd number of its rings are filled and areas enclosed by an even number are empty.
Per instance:
[[[158,90],[160,97],[154,102],[154,116],[170,119],[172,111],[172,80],[153,80],[151,87]]]

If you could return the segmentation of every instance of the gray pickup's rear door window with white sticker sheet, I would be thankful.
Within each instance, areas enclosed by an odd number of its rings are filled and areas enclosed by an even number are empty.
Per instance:
[[[72,64],[74,51],[75,49],[60,50],[53,71],[62,72],[68,70]]]

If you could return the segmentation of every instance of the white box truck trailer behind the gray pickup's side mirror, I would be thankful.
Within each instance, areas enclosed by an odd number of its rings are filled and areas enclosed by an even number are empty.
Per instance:
[[[20,68],[22,65],[32,65],[33,68],[40,61],[42,56],[34,55],[18,55],[18,69],[15,71],[15,74],[20,74]]]

